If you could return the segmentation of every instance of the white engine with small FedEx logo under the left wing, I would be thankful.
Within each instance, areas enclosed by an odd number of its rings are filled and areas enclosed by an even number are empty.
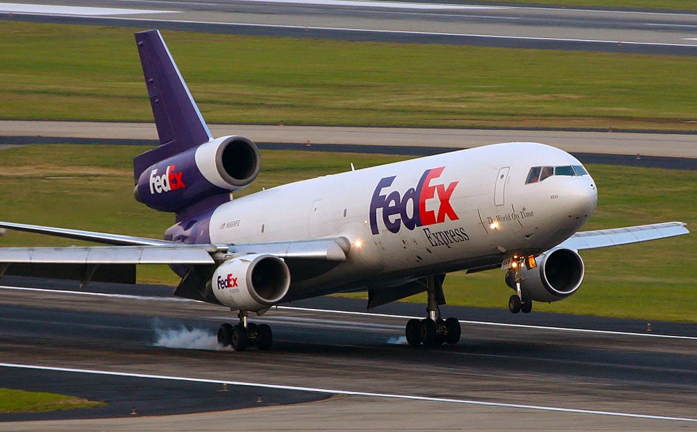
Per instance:
[[[222,263],[211,284],[213,295],[225,306],[256,312],[284,298],[291,286],[291,272],[277,256],[243,255]]]

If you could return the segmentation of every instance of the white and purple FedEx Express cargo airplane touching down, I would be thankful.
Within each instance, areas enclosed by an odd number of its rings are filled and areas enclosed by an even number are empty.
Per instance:
[[[174,295],[237,311],[217,339],[268,350],[250,313],[331,293],[367,291],[369,309],[427,293],[406,323],[411,346],[457,344],[441,317],[448,272],[500,268],[508,307],[576,293],[579,251],[689,233],[682,222],[581,231],[597,204],[583,164],[558,148],[513,142],[352,169],[233,199],[261,167],[246,137],[213,138],[158,30],[135,33],[160,145],[133,160],[134,195],[174,213],[164,240],[0,222],[0,228],[102,244],[0,248],[0,276],[135,284],[136,266],[167,264]]]

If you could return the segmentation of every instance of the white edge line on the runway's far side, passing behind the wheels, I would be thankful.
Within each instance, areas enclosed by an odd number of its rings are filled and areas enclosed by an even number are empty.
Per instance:
[[[164,302],[196,302],[196,300],[189,300],[187,298],[178,298],[178,297],[150,297],[150,296],[144,296],[144,295],[127,295],[127,294],[108,294],[108,293],[91,293],[89,291],[64,291],[64,290],[54,290],[54,289],[46,289],[46,288],[26,288],[26,287],[20,287],[20,286],[0,286],[0,290],[6,289],[6,290],[14,290],[14,291],[35,291],[37,293],[52,293],[52,294],[72,294],[72,295],[92,295],[95,297],[112,297],[112,298],[124,298],[124,299],[130,299],[130,300],[146,300],[146,301],[164,301]],[[197,302],[200,303],[200,302]],[[390,314],[374,314],[372,312],[353,312],[353,311],[333,311],[333,310],[328,310],[328,309],[312,309],[308,307],[292,307],[292,306],[279,306],[277,309],[281,310],[289,310],[289,311],[305,311],[305,312],[319,312],[323,314],[342,314],[342,315],[354,315],[354,316],[379,316],[383,318],[397,318],[397,319],[406,319],[409,320],[411,318],[423,318],[421,316],[408,316],[408,315],[390,315]],[[221,319],[228,319],[228,318],[221,318]],[[274,318],[273,321],[293,321],[293,319],[296,318],[289,318],[289,317],[277,317]],[[636,333],[636,332],[614,332],[610,330],[590,330],[590,329],[583,329],[583,328],[573,328],[573,327],[551,327],[551,326],[546,326],[546,325],[527,325],[527,324],[510,324],[510,323],[491,323],[487,321],[467,321],[467,320],[459,320],[460,323],[463,324],[473,324],[473,325],[491,325],[494,327],[516,327],[516,328],[525,328],[529,330],[551,330],[551,331],[556,331],[556,332],[579,332],[579,333],[590,333],[590,334],[612,334],[615,336],[637,336],[637,337],[657,337],[657,338],[663,338],[663,339],[685,339],[685,340],[690,340],[690,341],[697,341],[697,337],[691,337],[691,336],[675,336],[672,334],[660,334],[660,333]],[[323,323],[327,323],[327,321],[321,321]],[[389,327],[387,325],[383,325],[383,327]]]

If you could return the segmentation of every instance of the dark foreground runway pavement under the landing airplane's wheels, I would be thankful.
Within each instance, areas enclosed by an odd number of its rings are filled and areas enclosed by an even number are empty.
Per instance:
[[[236,353],[206,345],[229,311],[167,288],[27,284],[41,289],[0,288],[0,387],[98,396],[120,417],[0,415],[2,431],[697,429],[697,325],[444,307],[470,320],[463,340],[414,349],[402,334],[422,305],[367,315],[362,301],[323,298],[255,317],[272,325],[273,350]],[[168,329],[170,344],[199,349],[154,346]],[[277,405],[302,401],[315,402]],[[229,411],[240,405],[260,408]],[[158,416],[173,410],[217,412]]]

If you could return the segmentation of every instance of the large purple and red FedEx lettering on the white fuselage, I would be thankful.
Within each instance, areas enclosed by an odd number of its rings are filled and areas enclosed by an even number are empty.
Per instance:
[[[436,183],[445,167],[427,169],[416,187],[410,187],[404,195],[399,191],[385,192],[397,176],[385,177],[378,182],[370,201],[370,230],[378,234],[378,208],[383,213],[383,224],[391,233],[398,233],[402,224],[408,230],[417,226],[427,226],[457,220],[459,217],[450,205],[450,196],[457,186],[457,181],[445,185]],[[437,207],[432,207],[436,203]]]

